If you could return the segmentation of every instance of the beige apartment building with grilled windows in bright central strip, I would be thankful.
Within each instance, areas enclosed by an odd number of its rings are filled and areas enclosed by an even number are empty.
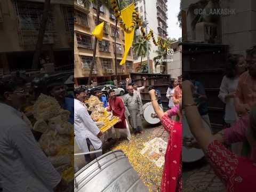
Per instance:
[[[81,0],[75,0],[75,83],[76,85],[87,84],[93,59],[94,37],[92,31],[96,25],[97,10],[92,4],[85,7]],[[100,22],[104,21],[102,41],[98,41],[96,60],[93,68],[93,80],[98,84],[113,81],[115,76],[115,16],[105,6],[100,7]],[[124,65],[119,65],[124,54],[124,33],[119,23],[116,31],[117,49],[117,81],[122,81],[133,72],[133,54],[130,49]]]

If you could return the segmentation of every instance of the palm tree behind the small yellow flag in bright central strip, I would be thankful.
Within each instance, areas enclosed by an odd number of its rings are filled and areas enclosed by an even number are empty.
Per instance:
[[[110,8],[111,4],[109,0],[84,0],[83,1],[85,4],[90,4],[93,3],[97,6],[97,17],[96,17],[96,25],[99,25],[99,20],[100,20],[100,7],[105,6],[108,9]],[[98,39],[94,37],[94,46],[93,46],[93,58],[92,58],[92,63],[91,63],[91,69],[90,69],[90,74],[88,78],[87,85],[91,84],[91,78],[92,78],[92,71],[95,63],[95,56],[96,56],[96,49],[97,49],[97,43]]]

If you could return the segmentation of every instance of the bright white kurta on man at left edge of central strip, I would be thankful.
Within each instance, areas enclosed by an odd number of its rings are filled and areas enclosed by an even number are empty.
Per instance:
[[[97,137],[100,130],[92,120],[87,109],[81,101],[74,100],[74,127],[77,145],[83,152],[89,152],[86,139],[90,139],[95,150],[102,146],[101,140]]]

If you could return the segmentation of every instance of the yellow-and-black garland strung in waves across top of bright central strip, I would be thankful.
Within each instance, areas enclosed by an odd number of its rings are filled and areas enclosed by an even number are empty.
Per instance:
[[[132,13],[132,25],[127,27],[125,25],[125,23],[123,22],[123,18],[122,18],[122,15],[121,15],[121,12],[119,11],[118,9],[118,5],[117,5],[117,2],[116,0],[111,0],[111,6],[112,6],[112,9],[114,10],[114,15],[116,17],[117,20],[119,20],[119,23],[120,23],[120,27],[127,33],[131,33],[132,30],[134,29],[135,25],[137,26],[141,26],[140,27],[140,31],[141,31],[141,34],[142,34],[142,37],[144,39],[146,39],[147,41],[150,40],[150,38],[153,39],[153,43],[155,44],[155,46],[161,46],[162,49],[164,50],[168,50],[170,47],[171,47],[171,43],[170,42],[167,42],[165,41],[164,39],[162,39],[161,37],[158,37],[157,38],[157,42],[156,42],[156,39],[154,37],[154,33],[153,33],[153,30],[150,29],[149,31],[149,34],[146,35],[145,33],[145,29],[142,27],[142,21],[140,19],[140,15],[138,12],[136,11],[133,11]]]

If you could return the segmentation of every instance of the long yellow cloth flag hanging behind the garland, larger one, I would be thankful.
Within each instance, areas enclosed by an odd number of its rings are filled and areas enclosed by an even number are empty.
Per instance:
[[[125,7],[125,9],[121,10],[121,15],[123,18],[123,21],[127,27],[132,25],[132,12],[134,11],[134,4]],[[120,65],[123,65],[126,60],[126,56],[132,46],[133,36],[134,36],[135,27],[133,28],[132,32],[130,34],[127,34],[124,31],[124,56],[122,61],[120,62]]]

